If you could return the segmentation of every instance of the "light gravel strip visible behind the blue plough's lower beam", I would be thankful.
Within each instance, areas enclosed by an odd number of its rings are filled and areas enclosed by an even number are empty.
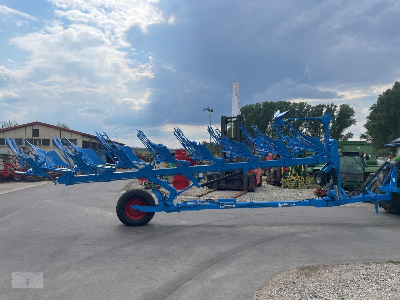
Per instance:
[[[143,186],[141,185],[141,182],[137,179],[134,179],[130,181],[124,188],[123,191],[130,190],[133,188],[139,188],[142,189]],[[163,191],[163,188],[161,189]],[[190,198],[198,198],[198,195],[206,192],[206,188],[190,188],[189,190],[184,191],[182,194],[178,196],[177,199],[190,199]],[[315,195],[312,193],[314,191],[314,188],[304,188],[304,189],[299,189],[299,188],[281,188],[278,186],[271,186],[269,184],[264,184],[262,186],[259,186],[256,188],[254,192],[248,192],[246,194],[243,194],[242,196],[237,197],[237,201],[249,201],[250,196],[253,197],[254,201],[286,201],[286,200],[302,200],[302,199],[308,199],[308,198],[314,198]],[[212,199],[218,199],[218,198],[225,198],[225,197],[232,197],[234,194],[237,194],[238,190],[217,190],[214,192],[211,192],[210,194],[204,195],[201,198],[212,198]],[[353,204],[346,204],[346,206],[374,206],[372,203],[353,203]]]

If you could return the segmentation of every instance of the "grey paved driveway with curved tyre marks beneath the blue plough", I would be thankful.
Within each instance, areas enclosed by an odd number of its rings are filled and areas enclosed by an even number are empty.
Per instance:
[[[248,299],[282,270],[398,260],[400,216],[371,207],[115,214],[126,182],[0,195],[0,299]],[[284,200],[284,199],[282,199]],[[43,272],[44,289],[12,289]]]

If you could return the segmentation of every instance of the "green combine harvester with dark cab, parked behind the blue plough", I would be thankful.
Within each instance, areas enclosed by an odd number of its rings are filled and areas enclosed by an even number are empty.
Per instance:
[[[339,141],[340,178],[344,188],[362,186],[366,179],[378,170],[374,148],[366,141]],[[323,185],[330,178],[320,169],[324,165],[306,166],[306,172],[314,176],[317,185]]]

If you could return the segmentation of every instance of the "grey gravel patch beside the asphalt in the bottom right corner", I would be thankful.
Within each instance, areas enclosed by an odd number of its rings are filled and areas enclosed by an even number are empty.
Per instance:
[[[306,266],[284,271],[252,300],[399,300],[399,262]]]

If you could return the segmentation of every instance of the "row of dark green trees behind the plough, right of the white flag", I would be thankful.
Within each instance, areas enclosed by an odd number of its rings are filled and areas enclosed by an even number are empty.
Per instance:
[[[244,117],[243,124],[250,130],[251,124],[257,126],[261,132],[271,138],[278,138],[272,121],[277,110],[285,112],[290,110],[288,118],[308,118],[321,117],[324,112],[328,112],[332,116],[332,121],[329,126],[330,137],[336,140],[349,140],[354,136],[351,132],[344,133],[350,126],[357,123],[354,118],[354,109],[348,104],[317,104],[312,106],[306,102],[292,103],[289,101],[266,101],[262,103],[248,104],[241,109]],[[307,134],[308,136],[317,136],[320,140],[324,137],[324,128],[321,122],[317,120],[304,121],[298,120],[291,123],[294,128]],[[282,128],[284,129],[284,128]],[[287,132],[284,129],[285,132]]]

